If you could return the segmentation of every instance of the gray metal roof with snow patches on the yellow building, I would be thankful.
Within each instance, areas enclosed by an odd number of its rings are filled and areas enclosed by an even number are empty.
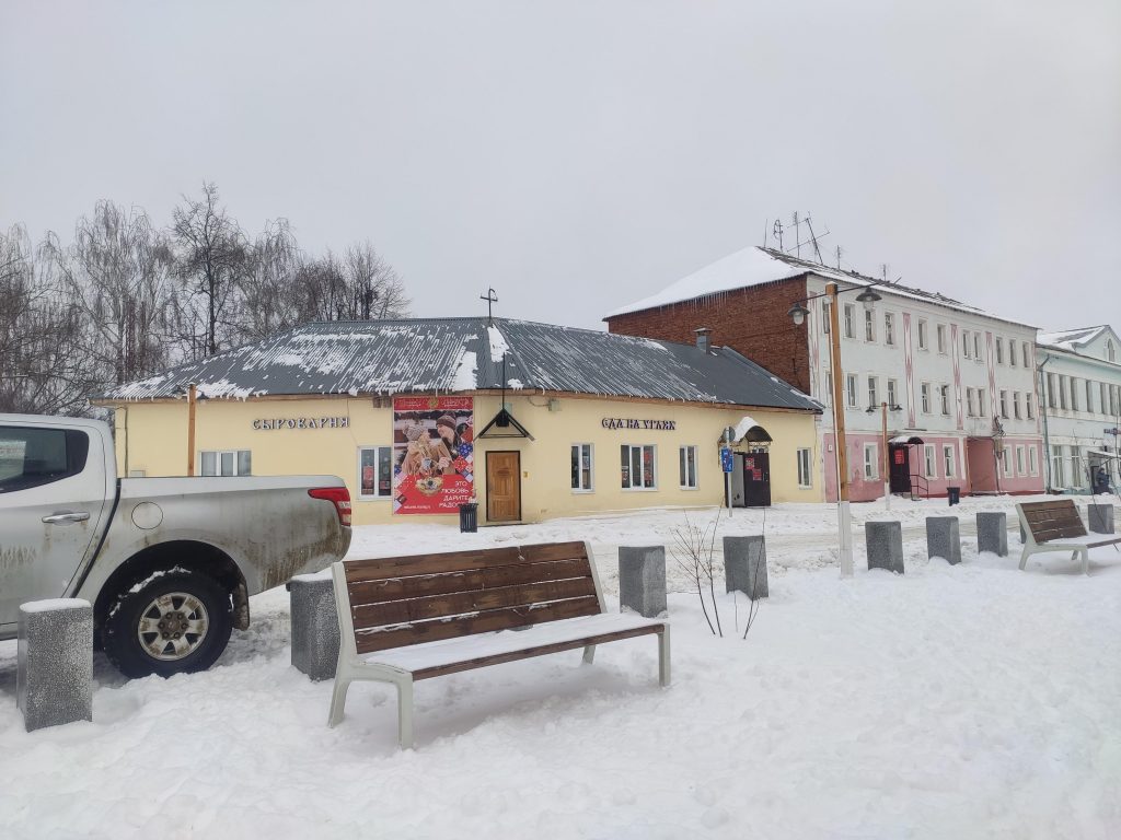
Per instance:
[[[817,411],[734,351],[495,318],[305,324],[257,344],[121,385],[102,399],[407,394],[502,386]]]

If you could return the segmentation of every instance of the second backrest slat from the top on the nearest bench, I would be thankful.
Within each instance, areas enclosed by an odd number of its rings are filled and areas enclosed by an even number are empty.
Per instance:
[[[445,592],[493,589],[517,584],[539,584],[569,578],[591,578],[592,566],[587,558],[553,560],[545,563],[518,563],[492,569],[472,569],[464,572],[387,578],[350,584],[351,606],[382,604],[405,598],[423,598]]]

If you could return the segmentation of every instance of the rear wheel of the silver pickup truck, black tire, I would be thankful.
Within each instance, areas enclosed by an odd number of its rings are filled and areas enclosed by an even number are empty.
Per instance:
[[[232,628],[230,594],[202,572],[177,570],[118,598],[104,624],[105,655],[131,678],[205,671]]]

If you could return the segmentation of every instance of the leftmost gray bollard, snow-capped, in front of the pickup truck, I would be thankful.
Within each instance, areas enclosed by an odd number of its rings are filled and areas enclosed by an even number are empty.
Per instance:
[[[27,731],[93,720],[93,607],[77,598],[19,607],[16,697]]]

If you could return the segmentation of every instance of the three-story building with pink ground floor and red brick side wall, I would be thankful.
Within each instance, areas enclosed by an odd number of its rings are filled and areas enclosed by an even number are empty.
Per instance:
[[[612,333],[687,340],[698,327],[825,404],[818,469],[837,496],[826,283],[840,288],[850,497],[1038,493],[1036,327],[942,295],[748,248],[606,316]],[[880,300],[856,301],[874,288]],[[788,310],[807,305],[795,324]],[[884,403],[887,409],[884,409]],[[884,436],[883,413],[888,433]],[[887,438],[887,440],[884,439]]]

